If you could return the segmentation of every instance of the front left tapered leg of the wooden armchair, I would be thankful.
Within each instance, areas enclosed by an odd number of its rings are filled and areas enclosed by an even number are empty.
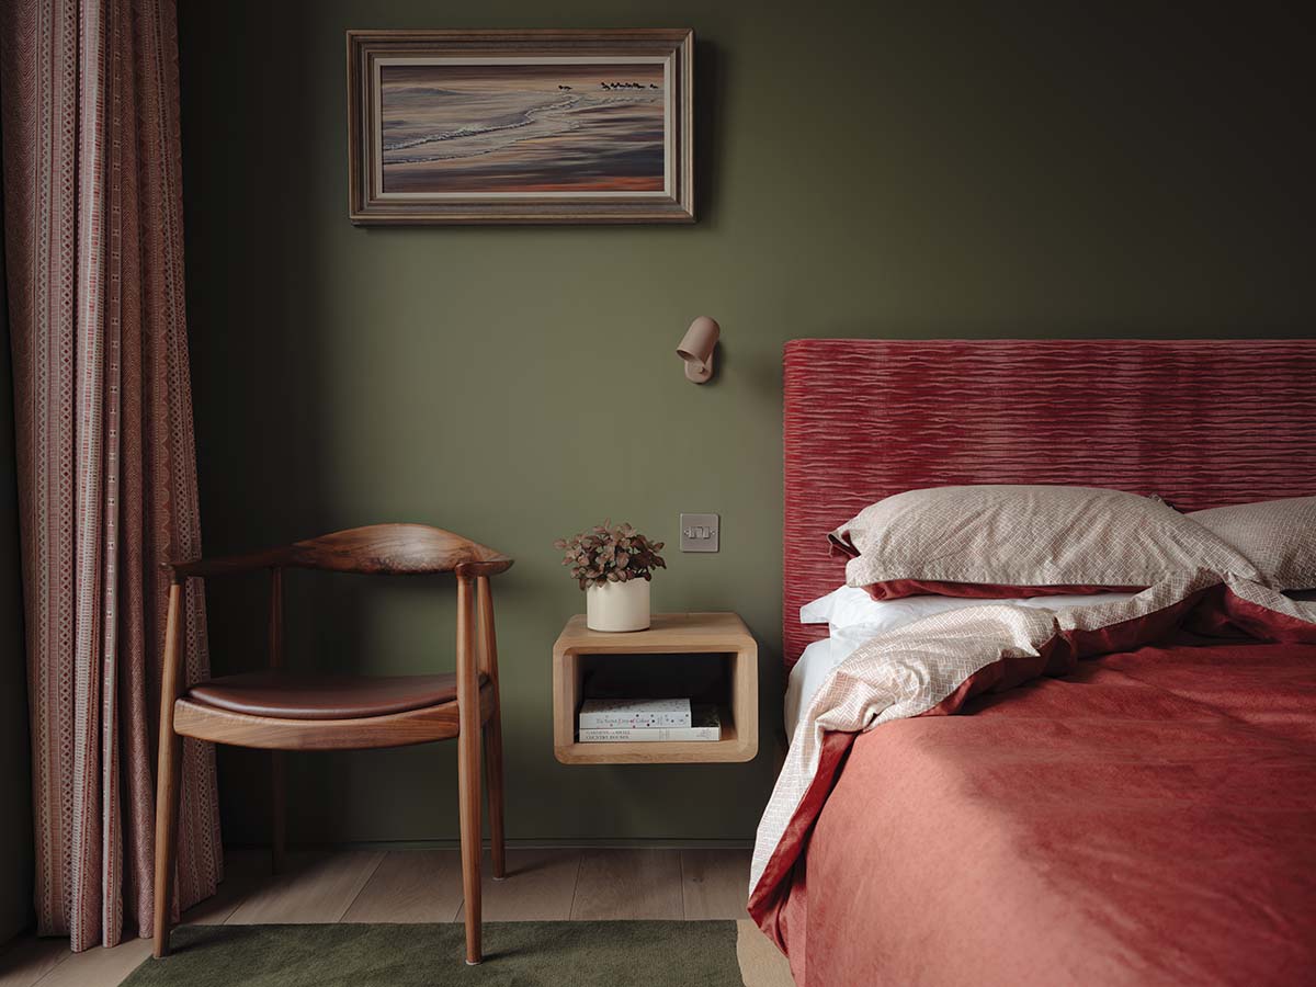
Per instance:
[[[164,667],[161,679],[161,736],[155,771],[155,915],[153,951],[168,953],[172,924],[174,857],[178,849],[179,779],[183,771],[183,738],[174,732],[174,703],[182,688],[183,587],[170,586],[168,624],[164,633]]]

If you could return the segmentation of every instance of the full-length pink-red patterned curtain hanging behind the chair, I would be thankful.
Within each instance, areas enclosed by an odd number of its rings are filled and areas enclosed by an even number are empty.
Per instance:
[[[174,0],[0,0],[0,124],[38,932],[83,950],[151,934],[159,563],[200,554]],[[187,907],[222,876],[191,741],[179,829]]]

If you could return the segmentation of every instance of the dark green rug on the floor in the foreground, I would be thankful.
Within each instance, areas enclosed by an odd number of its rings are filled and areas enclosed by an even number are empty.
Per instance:
[[[183,925],[124,987],[742,987],[734,921],[486,923],[467,966],[461,924]]]

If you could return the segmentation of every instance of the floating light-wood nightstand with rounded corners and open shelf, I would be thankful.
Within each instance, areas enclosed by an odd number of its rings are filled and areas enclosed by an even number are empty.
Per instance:
[[[587,679],[608,672],[625,678],[628,659],[697,655],[722,721],[720,741],[576,742],[576,712]],[[641,662],[634,662],[638,666]],[[653,671],[654,662],[646,662]],[[674,662],[674,665],[676,665]],[[687,667],[687,666],[682,666]],[[680,694],[672,679],[667,691]],[[647,695],[647,694],[645,694]],[[701,699],[703,696],[696,696]],[[553,646],[553,750],[563,765],[674,765],[753,761],[758,753],[758,644],[734,613],[655,613],[647,630],[590,630],[584,615],[567,621]]]

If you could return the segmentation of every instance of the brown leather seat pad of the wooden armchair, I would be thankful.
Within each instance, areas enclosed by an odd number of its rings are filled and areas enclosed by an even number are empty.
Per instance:
[[[480,675],[480,683],[486,680]],[[197,703],[282,720],[361,720],[451,703],[457,675],[304,675],[259,671],[200,682]]]

